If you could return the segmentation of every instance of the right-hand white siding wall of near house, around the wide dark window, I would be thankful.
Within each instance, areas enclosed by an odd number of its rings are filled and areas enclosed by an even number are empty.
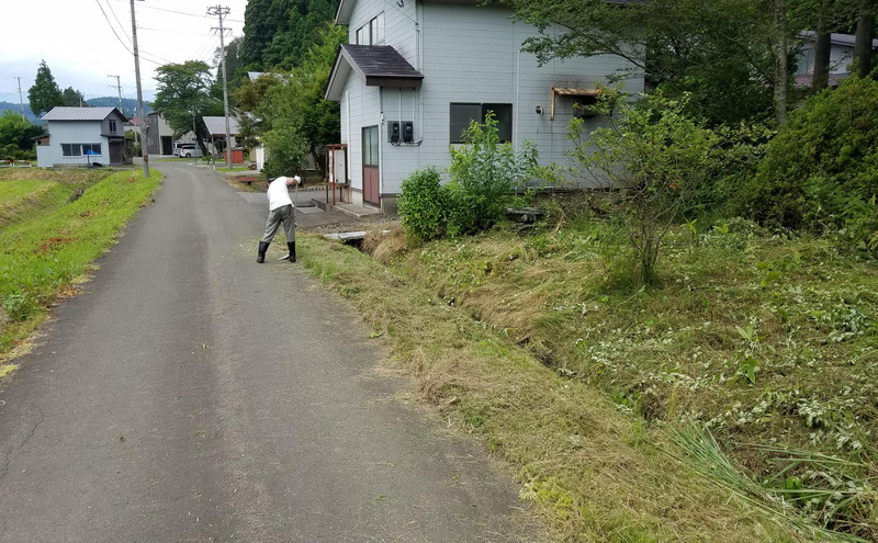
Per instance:
[[[543,163],[564,161],[570,148],[567,124],[573,102],[559,98],[550,120],[551,88],[594,88],[627,63],[615,56],[551,60],[538,66],[521,43],[538,35],[530,25],[514,23],[503,8],[461,8],[442,3],[424,7],[424,144],[420,165],[450,163],[451,102],[511,103],[514,144],[537,145]],[[630,79],[626,91],[641,92],[642,79]],[[538,115],[537,105],[545,113]],[[600,120],[589,120],[588,127]]]

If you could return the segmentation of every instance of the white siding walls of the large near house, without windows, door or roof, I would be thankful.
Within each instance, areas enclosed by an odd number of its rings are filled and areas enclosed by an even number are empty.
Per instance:
[[[381,126],[382,195],[397,194],[403,179],[415,169],[447,167],[451,161],[452,102],[511,103],[514,144],[520,148],[525,140],[534,143],[543,163],[565,161],[573,102],[570,98],[559,98],[554,121],[550,121],[551,88],[594,88],[627,67],[622,59],[612,56],[552,60],[539,67],[533,55],[520,52],[521,43],[538,35],[538,31],[514,23],[508,9],[430,1],[416,8],[418,3],[409,1],[405,8],[398,8],[385,0],[360,0],[351,14],[349,35],[353,43],[357,29],[383,11],[385,44],[396,48],[425,76],[419,90],[379,90],[365,87],[356,71],[349,77],[341,99],[341,139],[348,144],[354,191],[362,190],[363,126]],[[420,36],[415,26],[418,19]],[[642,78],[628,80],[624,90],[641,92]],[[543,108],[543,115],[534,112],[537,105]],[[423,142],[421,145],[391,146],[386,142],[387,121],[414,121],[415,142]],[[587,127],[599,122],[589,120]],[[361,199],[361,193],[354,193],[354,201],[358,197]]]

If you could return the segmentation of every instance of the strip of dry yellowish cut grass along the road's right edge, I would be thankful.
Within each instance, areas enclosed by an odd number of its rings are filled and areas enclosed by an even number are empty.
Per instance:
[[[373,248],[385,242],[398,245],[398,237],[367,239]],[[390,268],[313,236],[301,236],[301,244],[305,267],[359,309],[372,328],[370,336],[384,339],[393,367],[413,380],[419,397],[438,407],[449,423],[480,435],[516,470],[522,497],[549,527],[547,540],[834,539],[788,521],[783,511],[754,507],[743,493],[709,484],[699,475],[702,470],[676,460],[686,454],[665,425],[650,423],[585,380],[548,367],[530,344],[517,344],[509,324],[472,318],[465,303],[461,307],[462,294],[473,296],[485,287],[484,278],[504,265],[531,262],[538,254],[524,247],[528,240],[499,235],[440,242],[397,257]],[[464,250],[462,244],[506,250],[496,259],[480,258],[484,253]],[[522,298],[515,304],[532,317],[551,297],[541,283],[551,278],[578,283],[563,269],[528,268],[521,267],[520,279],[506,285],[503,297]],[[573,292],[583,287],[572,285]],[[518,321],[510,310],[503,316]]]

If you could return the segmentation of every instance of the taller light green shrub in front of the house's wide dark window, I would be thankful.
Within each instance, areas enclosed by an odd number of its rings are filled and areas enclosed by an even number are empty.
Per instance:
[[[448,171],[450,200],[448,234],[460,236],[491,228],[503,219],[514,186],[522,186],[537,167],[537,149],[525,143],[521,152],[502,144],[494,113],[484,124],[473,122],[466,145],[451,149]]]

